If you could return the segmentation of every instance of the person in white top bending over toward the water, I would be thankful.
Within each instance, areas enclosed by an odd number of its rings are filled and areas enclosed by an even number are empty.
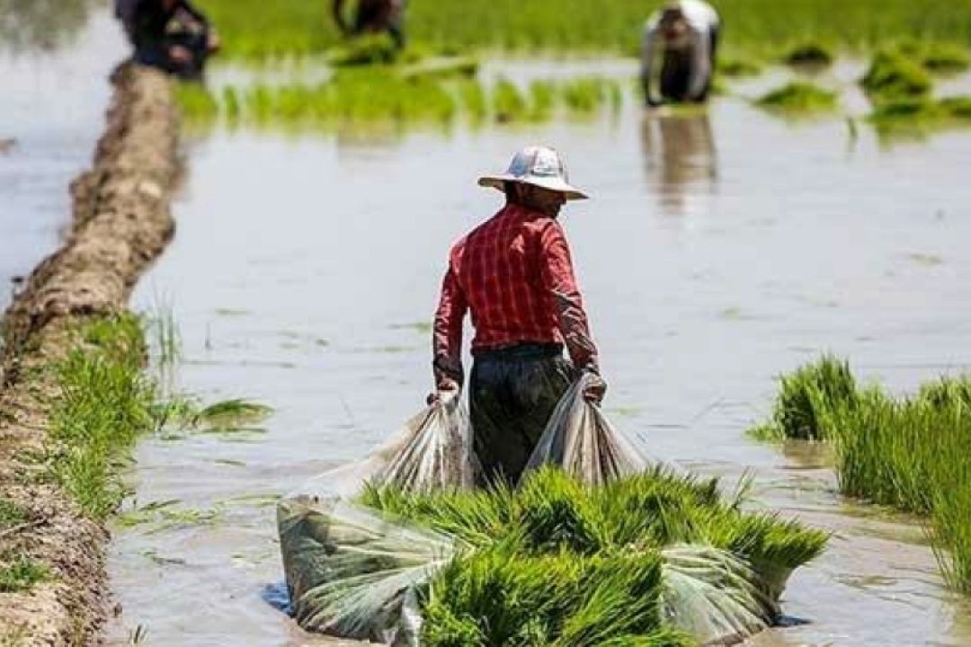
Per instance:
[[[648,19],[641,49],[641,81],[649,106],[664,101],[702,103],[708,98],[720,28],[718,12],[702,0],[672,0]],[[658,54],[659,98],[653,93]]]

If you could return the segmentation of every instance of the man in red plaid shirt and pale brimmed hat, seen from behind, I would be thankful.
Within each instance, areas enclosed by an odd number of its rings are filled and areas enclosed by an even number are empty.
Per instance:
[[[475,449],[486,481],[515,483],[570,384],[581,372],[599,374],[570,247],[556,221],[567,200],[586,195],[568,183],[559,154],[540,146],[519,151],[505,175],[479,184],[503,191],[506,205],[452,247],[433,368],[440,393],[461,387],[462,321],[471,310]],[[585,395],[600,402],[606,390],[597,377]]]

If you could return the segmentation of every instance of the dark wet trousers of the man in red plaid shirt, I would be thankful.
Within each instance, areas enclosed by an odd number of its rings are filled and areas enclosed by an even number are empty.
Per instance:
[[[519,480],[553,408],[575,378],[558,344],[529,343],[476,354],[469,406],[485,483]]]

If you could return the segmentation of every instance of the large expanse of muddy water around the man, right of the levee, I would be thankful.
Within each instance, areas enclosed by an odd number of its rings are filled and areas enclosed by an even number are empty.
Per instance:
[[[271,603],[272,501],[419,408],[447,248],[499,206],[474,178],[532,142],[563,150],[595,197],[564,221],[608,412],[658,458],[752,470],[756,505],[834,534],[791,580],[791,626],[753,642],[971,644],[916,523],[842,501],[819,451],[744,437],[773,376],[821,350],[895,389],[971,366],[971,135],[886,146],[738,97],[451,137],[193,143],[179,234],[137,301],[173,307],[181,389],[277,413],[260,432],[142,444],[133,504],[177,500],[196,518],[117,529],[117,639],[142,625],[157,645],[330,644]]]

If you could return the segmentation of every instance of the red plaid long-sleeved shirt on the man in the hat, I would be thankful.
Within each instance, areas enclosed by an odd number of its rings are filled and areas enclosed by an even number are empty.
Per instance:
[[[578,368],[597,368],[570,246],[551,217],[507,205],[455,243],[435,314],[438,376],[462,380],[462,320],[472,310],[472,352],[565,343]]]

